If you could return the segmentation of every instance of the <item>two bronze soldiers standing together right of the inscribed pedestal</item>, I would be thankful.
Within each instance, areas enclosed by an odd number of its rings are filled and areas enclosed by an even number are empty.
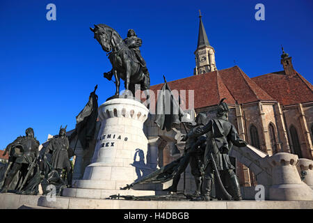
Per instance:
[[[205,114],[198,114],[195,126],[190,126],[182,139],[186,141],[185,151],[190,155],[191,174],[195,178],[194,201],[210,201],[212,185],[215,185],[216,199],[242,199],[229,153],[232,145],[242,147],[247,143],[239,138],[236,128],[228,121],[229,108],[223,100],[217,107],[216,118],[207,121]],[[179,178],[180,175],[176,175],[166,191],[177,192]]]

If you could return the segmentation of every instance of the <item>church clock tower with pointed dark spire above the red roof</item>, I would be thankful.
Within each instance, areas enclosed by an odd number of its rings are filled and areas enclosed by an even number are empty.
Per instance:
[[[201,75],[206,72],[211,72],[216,69],[215,64],[215,50],[211,47],[209,40],[207,38],[207,33],[205,32],[202,15],[199,10],[199,34],[198,34],[198,47],[195,50],[195,69],[193,70],[193,75]]]

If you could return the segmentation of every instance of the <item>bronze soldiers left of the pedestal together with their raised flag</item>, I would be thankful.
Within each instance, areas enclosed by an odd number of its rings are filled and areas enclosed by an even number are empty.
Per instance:
[[[95,134],[98,116],[98,96],[95,90],[90,93],[86,106],[76,117],[74,131],[67,137],[66,128],[61,128],[55,135],[42,144],[35,139],[33,128],[27,128],[26,136],[17,137],[8,144],[3,155],[8,154],[6,171],[0,171],[0,192],[17,194],[38,194],[39,185],[42,193],[56,192],[61,195],[63,188],[72,187],[72,162],[78,141],[83,149],[88,149]],[[75,140],[74,140],[75,139]],[[70,147],[74,141],[74,148]]]

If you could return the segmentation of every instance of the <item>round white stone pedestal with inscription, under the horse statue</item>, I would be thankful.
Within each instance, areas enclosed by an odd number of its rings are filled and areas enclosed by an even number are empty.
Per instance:
[[[75,181],[76,190],[67,189],[63,196],[104,198],[104,194],[117,193],[153,195],[154,191],[138,194],[134,190],[120,190],[120,187],[152,171],[146,162],[148,141],[143,133],[148,112],[141,102],[125,98],[115,98],[101,105],[101,128],[91,164],[86,167],[83,179]],[[143,188],[134,187],[137,190]]]

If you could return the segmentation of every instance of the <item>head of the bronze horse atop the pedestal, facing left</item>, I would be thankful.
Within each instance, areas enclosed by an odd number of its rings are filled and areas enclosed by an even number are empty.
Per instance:
[[[94,38],[99,42],[99,44],[102,46],[102,49],[105,52],[110,52],[111,47],[111,35],[112,30],[109,26],[106,26],[104,24],[97,24],[95,25],[95,28],[90,28],[91,31],[95,34]]]

